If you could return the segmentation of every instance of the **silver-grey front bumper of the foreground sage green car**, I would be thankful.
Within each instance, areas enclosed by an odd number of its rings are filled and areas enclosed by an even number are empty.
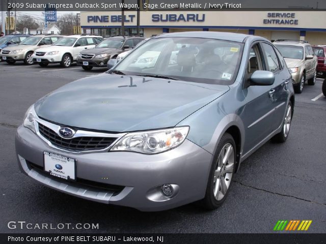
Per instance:
[[[20,126],[15,144],[21,171],[43,185],[142,211],[170,209],[204,198],[212,162],[211,154],[187,139],[177,148],[156,155],[121,151],[72,154],[49,147],[31,130]],[[75,159],[77,181],[53,178],[43,171],[43,151]],[[159,188],[163,184],[177,185],[177,194],[164,197]]]

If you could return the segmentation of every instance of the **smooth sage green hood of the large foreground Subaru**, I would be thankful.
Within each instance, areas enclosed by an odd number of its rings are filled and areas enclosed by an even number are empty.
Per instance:
[[[35,103],[39,117],[76,128],[127,132],[174,127],[219,98],[227,85],[103,73],[71,82]]]

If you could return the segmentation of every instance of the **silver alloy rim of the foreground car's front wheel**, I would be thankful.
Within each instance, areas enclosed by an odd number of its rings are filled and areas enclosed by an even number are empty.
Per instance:
[[[224,198],[230,187],[234,163],[234,148],[231,143],[227,143],[219,154],[214,171],[213,194],[218,201]]]

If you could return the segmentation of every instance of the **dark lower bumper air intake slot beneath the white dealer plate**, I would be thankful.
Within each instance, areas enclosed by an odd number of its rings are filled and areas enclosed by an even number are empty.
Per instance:
[[[61,182],[65,183],[65,184],[67,183],[67,180],[61,179],[59,177],[50,175],[47,172],[45,172],[43,170],[42,166],[39,166],[39,165],[34,164],[34,163],[32,163],[30,161],[27,161],[27,160],[26,160],[26,163],[28,164],[30,169],[33,168],[35,171],[37,171],[38,173],[40,173],[40,174],[42,174],[42,175],[44,175],[44,176],[46,176],[48,178],[61,181]],[[104,190],[107,190],[107,191],[113,191],[114,192],[113,196],[118,195],[125,188],[124,186],[111,185],[111,184],[106,184],[106,183],[102,183],[102,182],[82,179],[82,178],[78,178],[78,177],[76,177],[76,181],[74,181],[74,182],[69,181],[69,184],[70,185],[71,184],[73,184],[73,185],[76,184],[76,186],[78,186],[78,187],[82,187],[82,185],[84,185],[86,187],[93,187],[93,188],[96,188],[96,189],[104,189]]]

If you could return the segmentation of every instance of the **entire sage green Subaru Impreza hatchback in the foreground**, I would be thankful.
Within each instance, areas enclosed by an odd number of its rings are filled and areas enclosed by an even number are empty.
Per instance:
[[[159,52],[154,66],[131,66],[148,51]],[[289,136],[292,77],[264,38],[168,33],[116,61],[28,109],[15,139],[23,173],[106,204],[214,209],[244,159]]]

